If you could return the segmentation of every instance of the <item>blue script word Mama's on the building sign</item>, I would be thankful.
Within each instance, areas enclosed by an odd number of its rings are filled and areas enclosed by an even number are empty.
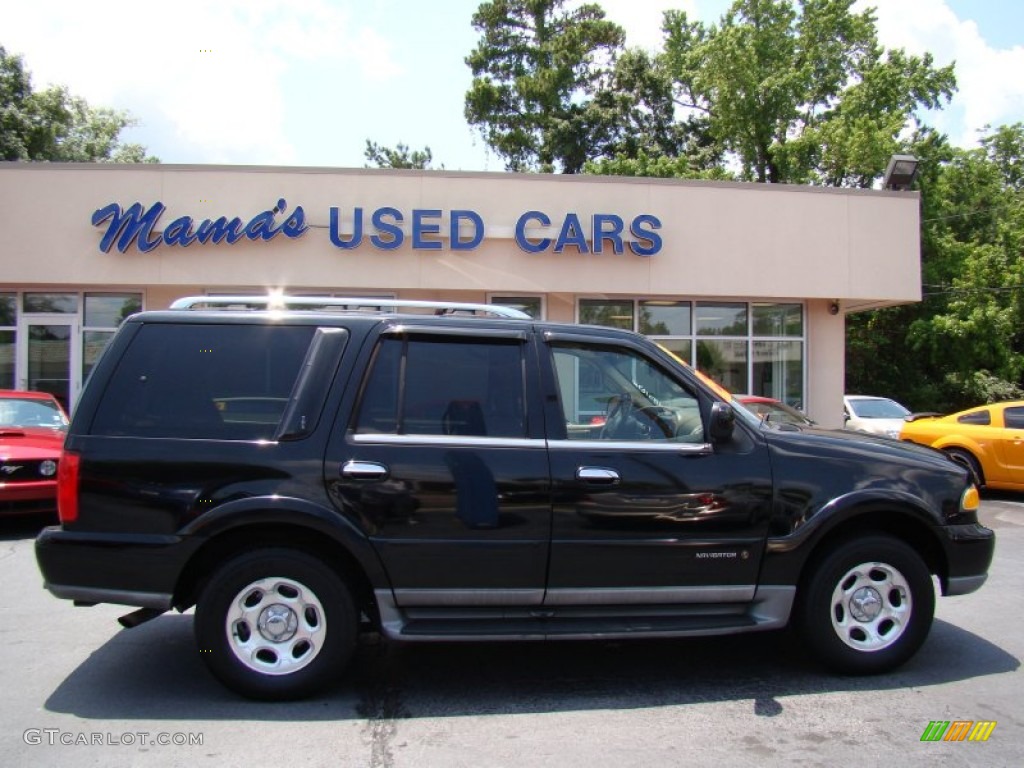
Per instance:
[[[121,210],[117,203],[111,203],[92,214],[92,225],[106,224],[106,231],[99,241],[99,250],[110,253],[117,246],[121,253],[126,253],[134,243],[139,251],[147,253],[157,246],[181,246],[187,248],[193,243],[238,243],[243,238],[252,241],[269,241],[278,234],[286,238],[300,238],[308,229],[306,214],[302,206],[296,206],[292,214],[280,224],[278,214],[288,209],[284,199],[268,211],[253,216],[248,223],[234,217],[230,220],[225,216],[218,219],[204,219],[198,226],[190,216],[180,216],[174,219],[161,232],[157,229],[160,217],[167,207],[160,202],[154,203],[148,209],[143,209],[141,203],[133,203],[127,209]]]

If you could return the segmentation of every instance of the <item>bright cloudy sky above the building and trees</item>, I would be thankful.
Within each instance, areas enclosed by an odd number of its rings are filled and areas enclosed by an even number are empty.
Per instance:
[[[707,24],[729,0],[596,0],[627,45],[655,49],[662,11]],[[128,111],[122,134],[164,163],[364,167],[368,139],[429,146],[433,166],[502,171],[463,116],[480,0],[40,0],[4,12],[0,45],[34,87]],[[880,42],[956,63],[927,122],[959,146],[1024,121],[1024,2],[857,0]]]

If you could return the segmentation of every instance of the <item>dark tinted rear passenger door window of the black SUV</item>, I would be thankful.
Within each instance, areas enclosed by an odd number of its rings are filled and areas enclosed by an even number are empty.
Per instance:
[[[518,341],[385,338],[364,387],[356,431],[523,437],[524,392]]]

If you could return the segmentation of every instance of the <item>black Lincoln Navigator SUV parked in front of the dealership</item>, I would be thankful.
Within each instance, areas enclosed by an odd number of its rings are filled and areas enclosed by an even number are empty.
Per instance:
[[[276,303],[273,303],[276,302]],[[196,605],[247,696],[395,640],[685,637],[791,622],[870,673],[994,538],[942,454],[761,421],[642,336],[504,307],[183,299],[124,323],[59,464],[46,587]],[[425,305],[425,307],[424,307]]]

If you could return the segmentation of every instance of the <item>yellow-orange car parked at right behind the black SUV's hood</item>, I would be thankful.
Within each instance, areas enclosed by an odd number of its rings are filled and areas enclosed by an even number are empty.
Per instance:
[[[978,487],[1024,490],[1024,400],[910,417],[899,436],[944,451],[968,468]]]

